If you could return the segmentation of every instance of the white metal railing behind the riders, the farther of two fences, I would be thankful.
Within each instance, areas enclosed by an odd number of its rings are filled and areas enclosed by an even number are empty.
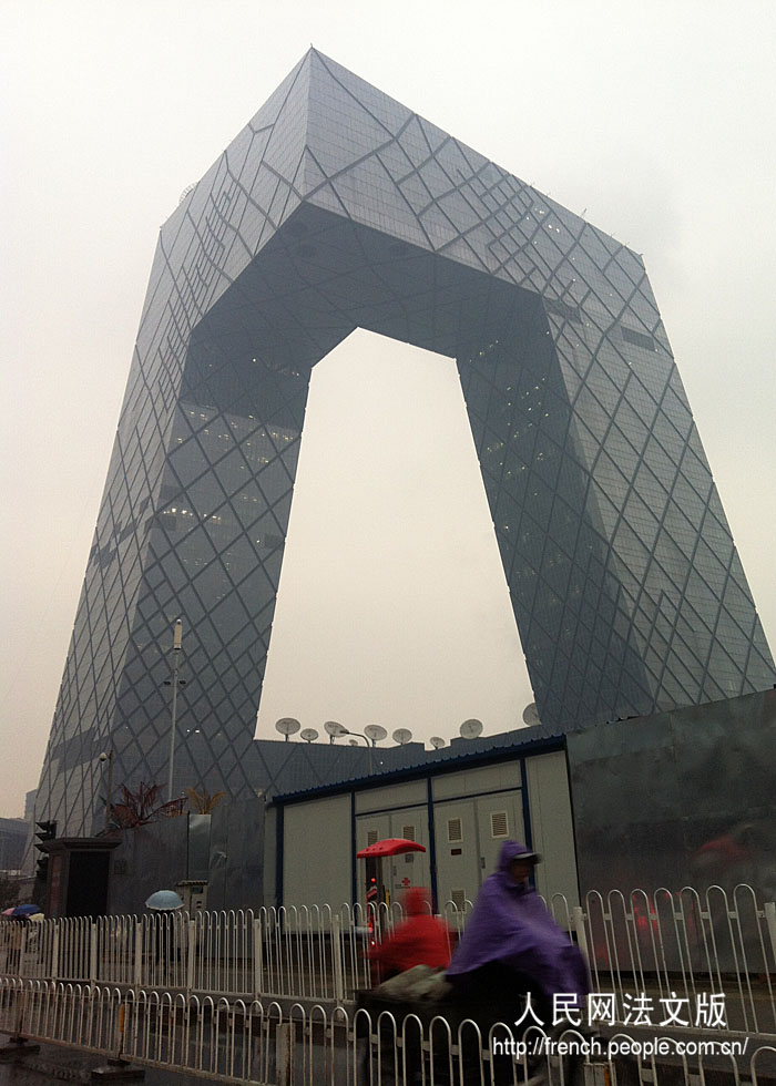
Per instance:
[[[451,944],[471,905],[445,910]],[[671,998],[674,1025],[696,1027],[698,1002],[724,1000],[728,1031],[776,1035],[776,908],[749,887],[647,894],[592,892],[583,908],[558,895],[555,919],[585,952],[592,986],[612,1000],[612,1022],[643,1023]],[[0,922],[0,976],[181,993],[214,1000],[267,998],[343,1005],[369,986],[365,951],[401,919],[398,904],[155,913]],[[636,1000],[641,1003],[636,1006]]]

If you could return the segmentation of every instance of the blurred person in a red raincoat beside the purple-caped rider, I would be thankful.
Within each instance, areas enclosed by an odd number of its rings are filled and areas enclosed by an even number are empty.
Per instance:
[[[450,964],[453,936],[443,920],[431,915],[428,890],[421,887],[408,890],[405,912],[407,919],[397,924],[385,942],[372,947],[367,955],[379,966],[384,981],[415,965],[443,970]]]

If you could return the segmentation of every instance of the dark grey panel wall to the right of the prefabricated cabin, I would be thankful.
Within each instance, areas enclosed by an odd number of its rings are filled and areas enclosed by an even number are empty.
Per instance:
[[[776,893],[776,690],[568,736],[580,885]]]

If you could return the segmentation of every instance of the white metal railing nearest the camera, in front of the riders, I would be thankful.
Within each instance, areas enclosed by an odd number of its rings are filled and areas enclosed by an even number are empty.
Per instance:
[[[776,1067],[775,1046],[749,1051],[742,1039],[685,1043],[667,1068],[625,1034],[596,1041],[566,1029],[553,1046],[543,1031],[523,1035],[504,1023],[483,1032],[471,1020],[451,1026],[438,1016],[9,977],[0,1031],[244,1086],[586,1086],[619,1075],[695,1086],[712,1068],[718,1082],[757,1086]]]

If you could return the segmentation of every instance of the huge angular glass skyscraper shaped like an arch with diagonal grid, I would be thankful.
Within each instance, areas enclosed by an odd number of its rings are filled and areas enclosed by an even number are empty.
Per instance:
[[[178,617],[175,792],[252,793],[310,368],[356,328],[458,367],[545,725],[776,678],[641,257],[312,49],[162,227],[38,818],[91,827],[109,746],[165,779]]]

